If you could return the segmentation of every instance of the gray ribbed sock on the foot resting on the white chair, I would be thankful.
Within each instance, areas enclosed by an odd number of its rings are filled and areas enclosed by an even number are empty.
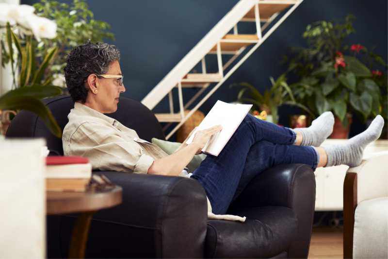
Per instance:
[[[323,146],[327,153],[327,164],[325,167],[337,165],[359,166],[365,147],[380,137],[383,126],[383,117],[377,115],[363,133],[341,144]]]

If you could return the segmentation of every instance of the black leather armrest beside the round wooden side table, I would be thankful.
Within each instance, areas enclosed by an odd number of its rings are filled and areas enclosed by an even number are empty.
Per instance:
[[[126,251],[120,254],[127,254],[129,258],[203,258],[207,200],[205,190],[197,181],[136,173],[96,173],[104,174],[123,188],[122,204],[98,211],[93,217],[94,221],[109,223],[102,230],[110,231],[108,239],[100,244],[98,239],[103,235],[98,235],[93,239],[97,245],[123,249],[117,243],[125,244]],[[114,224],[120,225],[117,233],[112,230]],[[92,229],[88,242],[91,236]],[[89,247],[96,250],[98,246],[94,243]],[[91,255],[89,251],[87,254]]]

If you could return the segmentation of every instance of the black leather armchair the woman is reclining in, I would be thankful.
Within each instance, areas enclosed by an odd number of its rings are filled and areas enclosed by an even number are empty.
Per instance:
[[[65,127],[74,107],[69,96],[45,99]],[[164,139],[153,113],[120,97],[109,114],[140,138]],[[62,140],[28,111],[19,112],[6,134],[46,138],[63,154]],[[123,187],[123,203],[98,211],[91,224],[86,258],[302,259],[307,258],[315,205],[315,177],[307,165],[281,165],[254,178],[227,213],[244,223],[207,219],[206,194],[193,179],[120,172],[98,172]],[[48,258],[65,258],[76,215],[48,217]]]

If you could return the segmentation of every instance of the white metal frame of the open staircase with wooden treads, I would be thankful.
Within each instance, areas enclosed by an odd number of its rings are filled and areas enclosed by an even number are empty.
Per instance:
[[[178,128],[211,96],[211,94],[214,93],[215,90],[218,89],[219,86],[221,86],[226,79],[237,69],[241,66],[241,64],[261,45],[261,43],[272,34],[273,31],[293,12],[293,10],[302,2],[303,0],[240,0],[233,8],[232,10],[226,14],[225,17],[223,17],[214,27],[210,30],[210,32],[205,35],[204,38],[202,38],[201,41],[198,42],[194,46],[194,48],[186,54],[186,56],[172,69],[163,79],[162,81],[155,86],[142,100],[142,103],[146,105],[149,109],[153,109],[156,104],[158,104],[162,99],[169,94],[169,101],[170,101],[170,114],[156,114],[159,121],[164,122],[179,122],[178,125],[167,135],[166,139],[170,138],[172,134],[178,130]],[[267,19],[260,19],[259,17],[259,6],[260,4],[279,4],[282,6],[287,5],[293,5],[291,8],[286,12],[286,14],[281,17],[272,28],[268,30],[265,35],[261,35],[261,31],[268,26],[268,24],[279,14],[279,12],[272,15],[272,17],[269,17]],[[236,24],[239,21],[253,21],[252,18],[246,18],[244,17],[247,15],[249,11],[252,10],[255,11],[255,21],[257,25],[257,40],[239,40],[239,39],[223,39],[226,34],[235,28],[235,35],[237,35],[237,27]],[[261,21],[267,21],[267,23],[264,26],[260,25]],[[263,28],[264,27],[264,28]],[[221,54],[224,54],[221,52],[221,44],[224,42],[230,42],[230,43],[254,43],[255,45],[237,62],[236,65],[232,69],[230,69],[225,75],[224,75],[224,69],[228,65],[230,65],[235,58],[237,58],[238,55],[242,53],[242,51],[245,49],[245,47],[242,47],[239,51],[233,52],[235,53],[235,56],[232,57],[231,61],[227,62],[225,66],[222,64],[222,58]],[[224,43],[225,44],[225,43]],[[216,46],[216,51],[213,49]],[[212,51],[213,50],[213,51]],[[205,67],[205,60],[204,57],[209,53],[216,53],[218,57],[218,67],[219,67],[219,77],[215,76],[216,74],[206,74],[206,67]],[[231,53],[226,53],[231,54]],[[207,78],[214,78],[214,80],[207,81],[208,83],[205,84],[205,82],[201,82],[200,79],[195,79],[200,74],[189,74],[190,78],[194,78],[194,80],[188,80],[188,73],[191,69],[194,68],[200,61],[202,60],[202,67],[204,72],[204,77]],[[200,77],[200,76],[199,76]],[[216,79],[219,78],[219,79]],[[182,101],[182,87],[185,87],[185,82],[192,81],[201,82],[204,83],[202,86],[203,88],[200,90],[199,93],[197,93],[194,98],[185,106],[183,106]],[[188,107],[190,104],[194,102],[194,100],[200,95],[200,93],[207,88],[211,82],[218,82],[216,86],[214,86],[210,92],[198,103],[195,105],[191,111],[184,116],[184,109]],[[189,83],[190,84],[190,83]],[[178,86],[178,95],[179,95],[179,109],[180,113],[173,113],[172,108],[172,94],[171,90]],[[190,86],[190,85],[188,85]],[[168,126],[167,126],[168,127]],[[165,127],[165,128],[167,128]]]

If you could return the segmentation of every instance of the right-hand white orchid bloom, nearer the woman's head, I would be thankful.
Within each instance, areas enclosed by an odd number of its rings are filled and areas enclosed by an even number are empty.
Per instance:
[[[26,21],[37,41],[41,38],[52,39],[57,36],[57,24],[48,18],[32,15],[26,17]]]

